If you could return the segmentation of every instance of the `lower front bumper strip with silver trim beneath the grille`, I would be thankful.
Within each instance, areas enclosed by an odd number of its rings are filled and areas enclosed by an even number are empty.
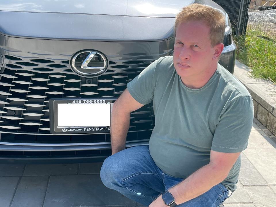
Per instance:
[[[148,145],[148,143],[149,139],[127,141],[126,148]],[[0,151],[2,152],[0,163],[5,164],[102,162],[110,156],[111,143],[37,144],[0,142]],[[45,153],[49,155],[47,156]]]

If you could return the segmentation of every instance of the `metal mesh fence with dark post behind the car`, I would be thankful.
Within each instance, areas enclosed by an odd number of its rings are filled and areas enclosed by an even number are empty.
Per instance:
[[[233,34],[276,42],[276,0],[213,0],[227,12]]]

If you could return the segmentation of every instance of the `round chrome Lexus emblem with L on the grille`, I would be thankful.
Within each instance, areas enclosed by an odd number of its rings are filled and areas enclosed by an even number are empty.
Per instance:
[[[107,69],[106,56],[95,50],[85,50],[74,54],[71,60],[72,69],[81,76],[98,76]]]

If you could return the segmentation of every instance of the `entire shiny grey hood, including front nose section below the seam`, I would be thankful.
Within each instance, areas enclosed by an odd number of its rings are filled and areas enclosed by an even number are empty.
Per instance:
[[[174,38],[176,14],[192,3],[223,11],[211,0],[0,1],[0,34],[35,39],[161,41]]]

